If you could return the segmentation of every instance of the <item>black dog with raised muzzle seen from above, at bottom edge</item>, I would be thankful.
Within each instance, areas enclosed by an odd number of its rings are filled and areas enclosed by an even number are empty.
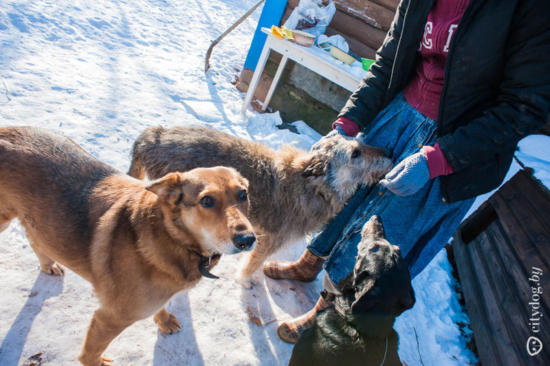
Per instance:
[[[393,323],[415,305],[415,292],[380,217],[363,226],[355,268],[339,287],[335,307],[320,312],[298,338],[289,366],[401,366]]]

